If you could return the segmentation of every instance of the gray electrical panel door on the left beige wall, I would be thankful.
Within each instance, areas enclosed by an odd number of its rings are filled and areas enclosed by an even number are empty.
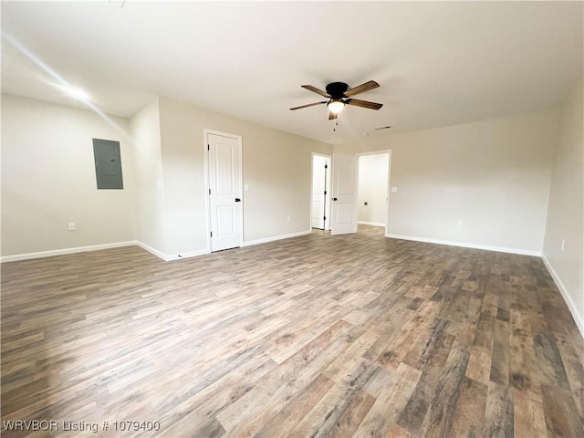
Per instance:
[[[93,139],[93,157],[98,189],[123,189],[120,141]]]

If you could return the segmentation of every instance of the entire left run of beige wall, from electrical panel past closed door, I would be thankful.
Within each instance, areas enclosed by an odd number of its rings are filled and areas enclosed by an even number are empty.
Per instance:
[[[328,144],[169,99],[110,121],[14,96],[2,103],[4,259],[132,241],[166,259],[208,251],[205,128],[243,138],[245,244],[310,231],[311,153],[331,153]],[[120,140],[123,191],[97,190],[94,137]]]

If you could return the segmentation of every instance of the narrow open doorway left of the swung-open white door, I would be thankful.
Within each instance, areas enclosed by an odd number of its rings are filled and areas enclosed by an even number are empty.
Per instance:
[[[312,154],[310,226],[330,230],[330,155]]]

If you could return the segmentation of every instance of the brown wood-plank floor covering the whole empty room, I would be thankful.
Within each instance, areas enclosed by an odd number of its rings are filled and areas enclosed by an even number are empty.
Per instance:
[[[170,263],[12,262],[2,419],[60,430],[2,434],[581,437],[583,347],[539,258],[370,226]]]

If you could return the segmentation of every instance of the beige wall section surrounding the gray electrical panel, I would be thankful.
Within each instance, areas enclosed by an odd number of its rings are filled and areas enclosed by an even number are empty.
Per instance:
[[[3,259],[136,238],[127,130],[125,119],[2,95]],[[123,190],[97,189],[93,138],[120,141]]]

